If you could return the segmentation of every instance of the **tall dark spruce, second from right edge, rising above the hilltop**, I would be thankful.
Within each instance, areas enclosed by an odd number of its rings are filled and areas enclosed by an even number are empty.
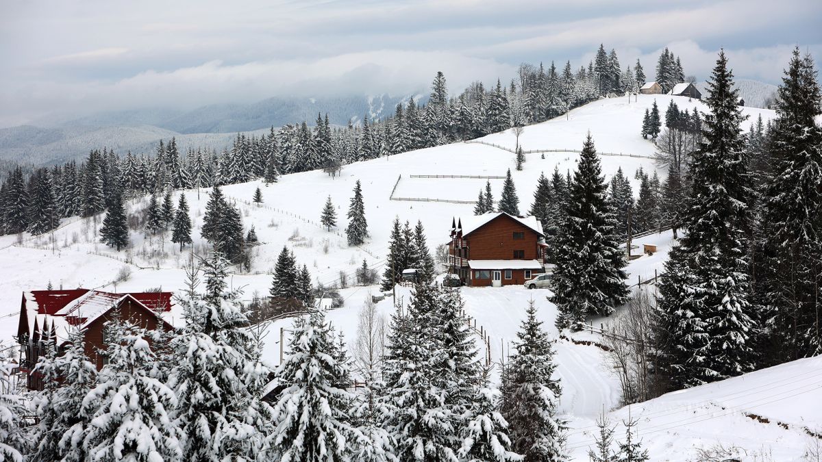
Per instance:
[[[743,116],[723,51],[708,93],[704,101],[712,113],[705,116],[705,142],[691,165],[687,233],[671,252],[659,286],[659,341],[675,387],[722,380],[754,366]]]

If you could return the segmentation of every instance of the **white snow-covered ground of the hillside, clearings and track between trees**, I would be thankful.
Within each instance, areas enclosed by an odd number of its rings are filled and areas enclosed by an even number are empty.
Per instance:
[[[584,136],[590,131],[600,151],[650,156],[653,155],[653,145],[640,136],[644,110],[656,99],[660,110],[664,111],[672,98],[681,109],[697,106],[705,110],[697,101],[664,95],[640,95],[637,102],[632,100],[630,104],[626,98],[602,99],[571,111],[568,120],[563,116],[526,127],[524,135],[520,136],[520,143],[526,150],[579,150]],[[750,115],[750,119],[755,119],[760,113],[765,119],[774,117],[773,111],[743,110]],[[510,132],[489,135],[483,141],[510,148],[515,146],[515,138]],[[284,245],[293,249],[300,265],[308,266],[315,283],[335,284],[339,281],[340,271],[348,275],[351,282],[354,271],[363,264],[363,259],[381,272],[388,247],[390,222],[395,216],[412,224],[421,220],[433,251],[437,245],[448,241],[452,217],[473,213],[473,204],[392,201],[392,191],[395,191],[395,197],[473,201],[486,181],[480,178],[412,178],[412,175],[504,176],[506,170],[511,169],[520,196],[520,210],[525,213],[531,205],[540,173],[550,175],[555,166],[562,173],[573,171],[577,156],[564,152],[546,153],[545,159],[541,159],[539,154],[529,154],[524,170],[516,171],[513,169],[514,155],[506,150],[482,144],[456,143],[347,165],[338,178],[314,171],[287,175],[269,186],[261,182],[248,182],[224,187],[224,194],[240,207],[245,228],[253,225],[261,241],[253,252],[252,274],[233,274],[230,284],[235,288],[244,288],[244,299],[251,299],[255,294],[267,294],[271,284],[270,272]],[[657,169],[661,178],[665,173],[664,169],[658,169],[653,159],[647,157],[607,155],[602,157],[602,161],[603,173],[607,178],[621,167],[635,188],[639,186],[633,179],[636,169]],[[366,218],[371,233],[371,238],[361,248],[348,247],[344,238],[345,213],[357,180],[363,185]],[[492,179],[491,183],[495,199],[498,199],[502,182]],[[251,203],[256,187],[261,187],[264,197],[261,206]],[[175,194],[175,202],[180,193],[187,196],[195,226],[193,237],[198,246],[203,245],[199,228],[208,199],[206,192],[192,190]],[[330,232],[319,225],[320,211],[327,196],[331,196],[337,208],[339,224],[337,229]],[[130,202],[128,206],[131,210],[139,210],[146,203],[143,198]],[[53,233],[53,240],[52,234],[35,238],[25,234],[22,243],[16,244],[17,236],[0,237],[0,265],[7,268],[0,279],[0,340],[4,344],[10,344],[16,332],[21,293],[24,290],[44,289],[49,281],[55,288],[62,286],[66,289],[85,287],[142,291],[158,287],[165,290],[182,288],[184,275],[181,267],[185,264],[187,250],[178,252],[178,247],[169,242],[168,235],[161,243],[162,239],[157,236],[146,238],[141,233],[132,233],[133,245],[129,257],[134,264],[127,264],[122,261],[126,252],[114,252],[97,243],[99,238],[96,231],[101,219],[97,219],[97,224],[91,219],[64,220],[62,227]],[[640,247],[644,243],[656,244],[658,252],[630,262],[627,269],[629,284],[635,284],[638,278],[648,280],[655,270],[662,270],[671,242],[671,233],[636,239],[634,244]],[[634,252],[640,253],[640,250]],[[113,284],[112,281],[118,279],[118,273],[124,267],[130,272],[130,277]],[[343,289],[344,307],[329,313],[329,320],[344,332],[349,345],[356,339],[360,308],[365,299],[377,291],[376,286]],[[556,340],[557,375],[563,387],[561,412],[565,413],[571,427],[569,446],[574,448],[577,458],[584,460],[583,446],[587,447],[590,442],[589,427],[593,425],[593,419],[602,409],[614,409],[620,405],[619,384],[604,365],[600,349],[559,339],[553,326],[556,308],[547,301],[547,293],[544,289],[527,290],[520,287],[463,289],[466,312],[476,322],[477,329],[482,328],[483,335],[487,337],[493,363],[499,363],[506,357],[529,300],[533,299],[537,304],[543,326]],[[409,289],[398,288],[397,295],[398,303],[408,303]],[[394,310],[394,301],[386,298],[377,306],[387,317]],[[595,325],[608,321],[610,318],[593,320]],[[284,329],[284,335],[288,335],[289,326],[289,320],[267,326],[265,357],[272,366],[279,363],[279,330]],[[577,333],[573,338],[597,340],[597,335]],[[478,342],[481,341],[478,335]],[[796,398],[787,396],[787,399],[769,406],[757,404],[761,406],[755,412],[769,416],[769,424],[752,420],[743,411],[748,410],[748,404],[756,404],[754,401],[757,398],[792,390],[794,381],[783,381],[783,377],[798,380],[805,377],[798,376],[801,372],[814,368],[820,370],[820,366],[822,363],[818,359],[787,364],[751,374],[752,379],[739,377],[727,381],[728,385],[722,382],[665,395],[658,400],[633,406],[632,412],[640,416],[640,434],[644,435],[646,446],[652,450],[652,460],[692,460],[695,457],[694,446],[709,446],[714,441],[745,446],[750,451],[758,450],[763,445],[772,446],[774,455],[777,450],[781,451],[779,455],[785,455],[774,457],[774,460],[793,460],[805,444],[803,438],[806,433],[801,426],[815,425],[816,431],[820,432],[820,418],[817,416],[822,409],[811,409],[803,403],[812,402],[818,406],[822,402],[822,390],[810,389],[809,385],[809,390],[803,389],[805,392]],[[815,377],[816,383],[819,383],[820,377],[812,373],[807,377]],[[769,383],[779,387],[765,386]],[[801,383],[804,382],[796,381],[795,385]],[[761,386],[760,391],[754,390],[747,396],[746,390],[753,386]],[[729,399],[727,390],[738,393],[735,396],[739,399]],[[774,398],[777,397],[774,395]],[[615,418],[622,418],[627,409],[613,413]],[[643,417],[643,413],[648,413],[648,417]],[[700,418],[705,418],[705,423]],[[789,429],[778,427],[774,424],[775,420],[789,424]],[[672,427],[676,423],[683,426]]]

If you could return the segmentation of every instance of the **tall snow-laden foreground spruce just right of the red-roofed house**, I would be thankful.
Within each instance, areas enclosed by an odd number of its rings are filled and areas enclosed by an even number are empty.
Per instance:
[[[219,252],[199,265],[192,262],[179,299],[186,326],[172,342],[180,360],[169,386],[178,398],[173,418],[181,433],[182,460],[248,460],[263,446],[264,423],[248,421],[249,410],[259,409],[247,382],[247,372],[257,367],[256,353],[239,293],[226,292],[228,265]],[[205,293],[197,290],[201,270]]]

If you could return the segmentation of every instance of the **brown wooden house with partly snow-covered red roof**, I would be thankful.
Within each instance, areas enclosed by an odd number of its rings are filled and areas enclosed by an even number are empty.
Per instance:
[[[160,322],[167,330],[182,322],[173,309],[172,293],[109,293],[90,289],[32,290],[23,293],[16,340],[20,344],[20,371],[30,390],[42,388],[39,374],[33,372],[45,345],[53,340],[58,354],[67,346],[72,329],[85,330],[85,353],[97,369],[103,368],[104,326],[114,312],[135,326],[155,330]],[[159,313],[159,318],[158,318]],[[175,320],[175,317],[177,318]]]

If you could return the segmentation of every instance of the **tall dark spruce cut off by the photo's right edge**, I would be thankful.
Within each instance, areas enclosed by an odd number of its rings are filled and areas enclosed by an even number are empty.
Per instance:
[[[822,128],[820,85],[810,54],[793,50],[770,130],[774,173],[764,189],[764,256],[757,267],[769,306],[774,362],[822,353]]]

